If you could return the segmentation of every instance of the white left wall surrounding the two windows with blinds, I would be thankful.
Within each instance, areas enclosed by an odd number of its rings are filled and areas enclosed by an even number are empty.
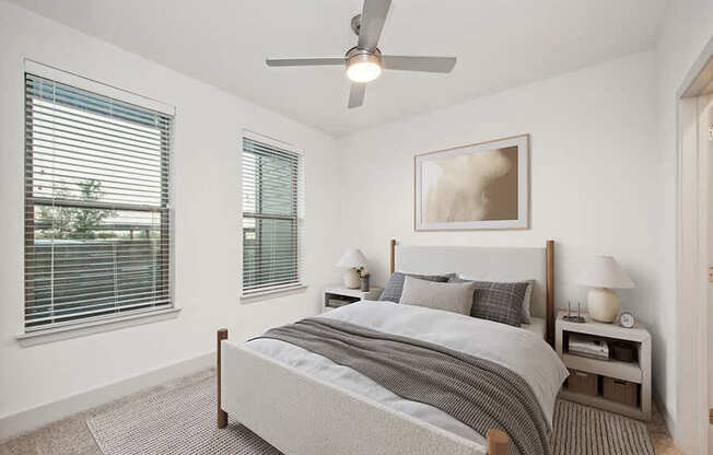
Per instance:
[[[235,339],[316,314],[332,264],[339,206],[335,141],[37,14],[0,2],[0,419],[214,350],[214,330]],[[177,107],[175,299],[167,322],[21,348],[23,318],[23,57]],[[238,133],[270,135],[306,150],[305,295],[241,304],[237,296]]]

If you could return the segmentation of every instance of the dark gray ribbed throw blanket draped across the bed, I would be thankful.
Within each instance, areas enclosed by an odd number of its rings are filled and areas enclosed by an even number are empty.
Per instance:
[[[530,386],[494,362],[439,345],[315,317],[268,330],[272,338],[350,366],[412,401],[434,406],[484,435],[494,428],[513,455],[550,455],[549,427]]]

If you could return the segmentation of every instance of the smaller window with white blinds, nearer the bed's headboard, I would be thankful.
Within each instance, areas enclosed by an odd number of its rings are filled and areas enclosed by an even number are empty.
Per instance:
[[[299,287],[304,234],[302,153],[243,137],[243,295]]]

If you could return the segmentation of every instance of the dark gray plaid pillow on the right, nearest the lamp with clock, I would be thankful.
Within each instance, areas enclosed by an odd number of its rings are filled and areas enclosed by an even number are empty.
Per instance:
[[[496,283],[490,281],[470,281],[452,278],[452,283],[472,282],[476,289],[472,293],[470,315],[481,319],[494,320],[519,327],[523,319],[523,301],[529,282]]]

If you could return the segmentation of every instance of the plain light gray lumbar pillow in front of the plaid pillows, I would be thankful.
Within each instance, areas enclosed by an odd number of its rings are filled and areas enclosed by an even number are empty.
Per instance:
[[[475,282],[444,283],[406,277],[399,303],[470,315],[475,288]]]

